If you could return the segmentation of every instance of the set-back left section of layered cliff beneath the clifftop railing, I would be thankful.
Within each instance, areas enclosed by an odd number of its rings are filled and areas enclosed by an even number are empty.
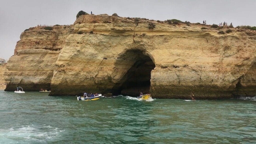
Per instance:
[[[5,90],[13,91],[17,86],[24,91],[50,89],[55,62],[69,34],[69,26],[65,27],[54,26],[53,30],[34,27],[21,34],[6,66]]]

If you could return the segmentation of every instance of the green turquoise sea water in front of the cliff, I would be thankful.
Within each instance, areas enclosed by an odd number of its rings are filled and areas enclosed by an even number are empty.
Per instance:
[[[78,101],[0,91],[0,143],[256,143],[256,99]]]

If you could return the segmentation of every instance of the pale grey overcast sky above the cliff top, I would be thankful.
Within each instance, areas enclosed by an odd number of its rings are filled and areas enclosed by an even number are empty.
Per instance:
[[[13,55],[25,29],[38,24],[73,24],[80,10],[95,15],[256,26],[256,0],[0,0],[0,58],[8,60]]]

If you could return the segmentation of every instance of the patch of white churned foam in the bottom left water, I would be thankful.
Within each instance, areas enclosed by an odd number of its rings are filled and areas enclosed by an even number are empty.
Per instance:
[[[0,143],[15,142],[15,141],[47,141],[60,137],[59,128],[47,125],[24,125],[12,127],[8,129],[0,129]]]

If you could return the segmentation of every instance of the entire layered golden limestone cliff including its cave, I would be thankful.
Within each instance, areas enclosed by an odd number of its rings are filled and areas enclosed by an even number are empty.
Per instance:
[[[6,90],[47,88],[52,96],[83,91],[143,91],[154,98],[255,96],[256,32],[231,28],[218,34],[217,28],[201,27],[81,15],[66,28],[30,28],[8,61]]]

